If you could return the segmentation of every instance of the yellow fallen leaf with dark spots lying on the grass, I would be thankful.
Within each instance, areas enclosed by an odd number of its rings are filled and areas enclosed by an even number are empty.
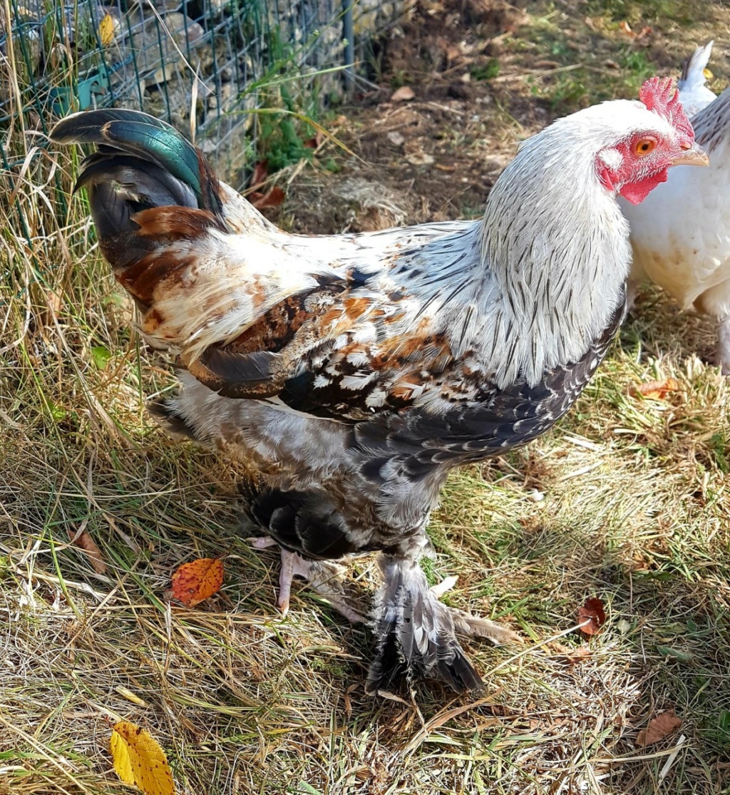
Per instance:
[[[165,751],[146,729],[120,720],[109,741],[116,774],[145,795],[175,795],[175,782]]]

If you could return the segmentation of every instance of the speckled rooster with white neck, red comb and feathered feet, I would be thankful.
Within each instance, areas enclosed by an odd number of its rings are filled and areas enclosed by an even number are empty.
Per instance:
[[[425,528],[452,467],[546,432],[604,358],[631,260],[616,194],[705,162],[669,80],[640,99],[523,142],[478,222],[331,237],[280,231],[145,114],[52,131],[96,145],[78,186],[101,250],[181,368],[152,411],[247,463],[257,543],[282,549],[279,606],[302,576],[358,619],[332,561],[379,553],[368,692],[404,673],[479,688],[457,634],[518,639],[437,598]]]

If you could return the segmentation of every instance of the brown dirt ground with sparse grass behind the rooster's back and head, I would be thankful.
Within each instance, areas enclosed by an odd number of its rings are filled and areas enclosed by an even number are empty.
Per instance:
[[[361,83],[339,118],[325,122],[357,157],[328,145],[340,172],[297,170],[288,201],[272,217],[317,234],[477,217],[518,143],[554,118],[604,99],[635,99],[643,80],[678,76],[693,47],[710,38],[709,85],[719,92],[727,84],[727,7],[673,0],[517,6],[419,0],[410,19],[365,56],[372,83]],[[407,89],[412,98],[399,100]]]

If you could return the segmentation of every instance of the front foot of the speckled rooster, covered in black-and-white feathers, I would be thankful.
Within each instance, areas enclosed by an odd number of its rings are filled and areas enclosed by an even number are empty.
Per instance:
[[[456,634],[493,643],[521,641],[512,630],[441,603],[438,595],[448,588],[429,588],[416,561],[382,555],[380,568],[383,584],[375,607],[378,656],[368,673],[367,692],[390,688],[404,673],[441,679],[456,692],[479,690],[482,680]]]

